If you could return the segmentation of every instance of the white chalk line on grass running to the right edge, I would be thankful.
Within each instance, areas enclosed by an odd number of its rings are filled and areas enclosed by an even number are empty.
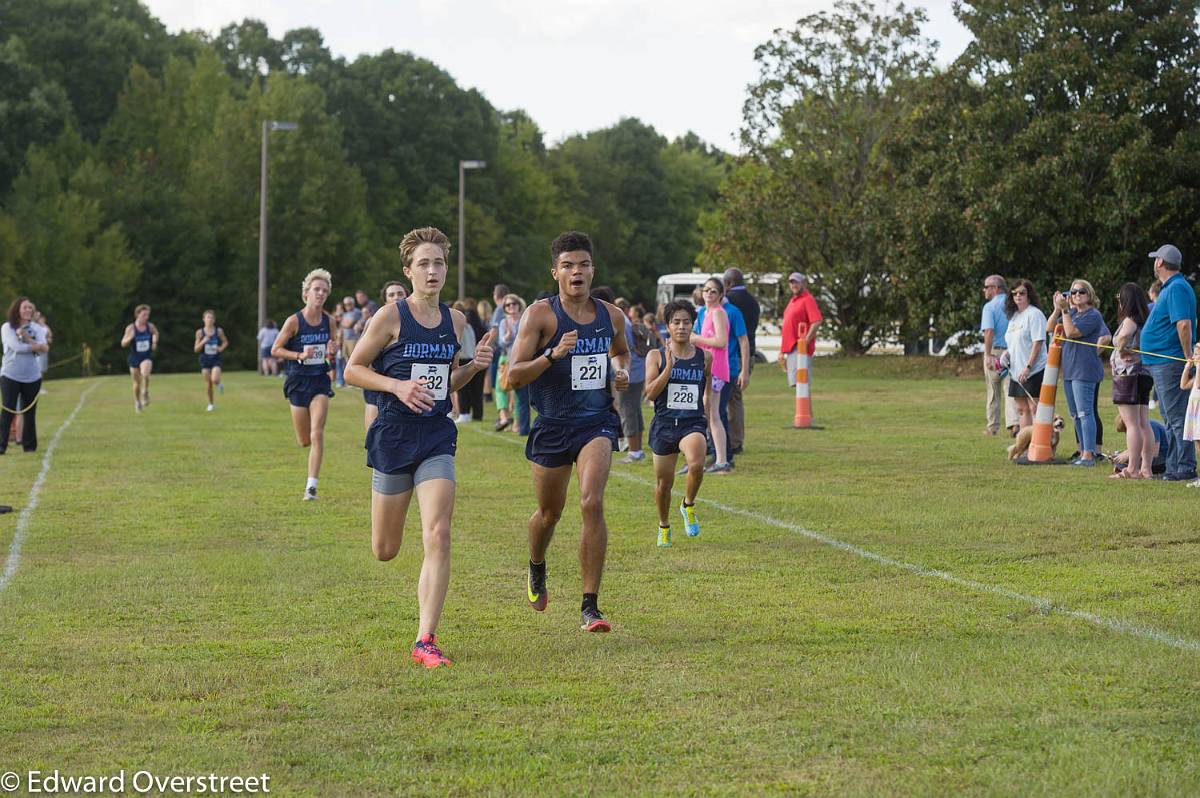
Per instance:
[[[514,444],[522,444],[522,440],[512,440],[506,436],[498,432],[487,432],[484,430],[475,430],[479,434],[487,436],[490,438],[500,438]],[[643,479],[638,479],[632,474],[624,474],[622,472],[612,472],[612,475],[617,479],[625,480],[626,482],[635,482],[644,487],[653,488],[654,484]],[[790,521],[781,521],[764,512],[756,512],[754,510],[743,510],[742,508],[736,508],[728,504],[722,504],[721,502],[714,502],[713,499],[706,499],[702,496],[697,496],[696,500],[714,506],[718,510],[728,512],[730,515],[742,516],[743,518],[751,518],[760,523],[764,523],[779,529],[786,529],[787,532],[796,533],[814,542],[818,542],[823,546],[829,546],[830,548],[836,548],[844,551],[854,557],[860,557],[862,559],[870,560],[872,563],[878,563],[880,565],[887,568],[895,568],[902,571],[908,571],[910,574],[916,574],[917,576],[923,576],[926,578],[936,578],[943,582],[949,582],[950,584],[958,586],[960,588],[966,588],[968,590],[976,590],[978,593],[990,593],[992,595],[1003,596],[1006,599],[1012,599],[1021,604],[1027,604],[1033,606],[1038,612],[1043,614],[1060,614],[1067,618],[1074,618],[1076,620],[1084,620],[1086,623],[1100,626],[1102,629],[1108,629],[1115,631],[1120,635],[1129,635],[1132,637],[1141,637],[1142,640],[1151,640],[1157,643],[1163,643],[1164,646],[1170,646],[1171,648],[1177,648],[1184,652],[1200,652],[1200,641],[1195,641],[1188,637],[1181,637],[1180,635],[1172,635],[1168,631],[1162,631],[1160,629],[1154,629],[1153,626],[1147,626],[1145,624],[1134,623],[1132,620],[1123,620],[1121,618],[1106,618],[1104,616],[1096,614],[1094,612],[1087,612],[1084,610],[1072,610],[1066,607],[1051,599],[1044,599],[1037,595],[1028,595],[1025,593],[1019,593],[1018,590],[1012,590],[1009,588],[989,584],[986,582],[979,582],[978,580],[970,580],[962,576],[955,576],[949,571],[942,571],[936,568],[926,568],[924,565],[917,565],[914,563],[906,563],[904,560],[893,559],[884,554],[876,554],[872,551],[862,548],[853,544],[847,544],[844,540],[838,540],[836,538],[830,538],[829,535],[823,535],[820,532],[812,532],[811,529],[805,529],[804,527],[792,523]]]

